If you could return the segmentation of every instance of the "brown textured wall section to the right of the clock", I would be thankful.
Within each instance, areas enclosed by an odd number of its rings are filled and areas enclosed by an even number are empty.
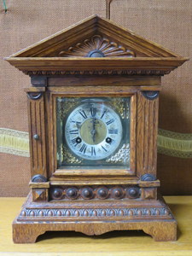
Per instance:
[[[111,19],[190,61],[162,79],[159,127],[192,133],[192,1],[113,0]],[[192,160],[158,155],[164,195],[192,195]]]

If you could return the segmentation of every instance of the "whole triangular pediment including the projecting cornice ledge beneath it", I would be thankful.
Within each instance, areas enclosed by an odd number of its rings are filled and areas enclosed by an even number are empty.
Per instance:
[[[172,69],[187,60],[164,49],[159,44],[137,36],[134,32],[97,15],[90,16],[57,32],[49,38],[11,55],[6,60],[20,70],[24,70],[24,66],[26,69],[31,67],[34,70],[33,66],[35,65],[44,70],[47,67],[50,69],[50,66],[55,67],[56,70],[56,68],[63,69],[65,67],[68,69],[70,63],[73,65],[74,58],[77,60],[76,64],[79,59],[81,59],[81,63],[84,62],[83,65],[79,64],[82,67],[84,65],[86,67],[101,66],[104,63],[101,64],[102,59],[103,61],[105,59],[106,65],[115,66],[114,59],[118,59],[119,66],[122,63],[123,68],[141,67],[141,65],[152,67],[153,65],[149,61],[155,61],[156,67],[163,67],[167,64],[172,66]],[[88,61],[88,59],[90,60]],[[45,61],[47,61],[46,65]],[[95,65],[96,62],[98,65]]]

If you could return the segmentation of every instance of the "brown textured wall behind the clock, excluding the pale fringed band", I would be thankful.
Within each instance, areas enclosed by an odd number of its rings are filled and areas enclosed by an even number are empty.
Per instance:
[[[105,0],[7,0],[0,2],[0,127],[27,131],[26,94],[30,79],[3,61],[87,16],[105,17]],[[179,55],[192,58],[191,0],[113,0],[111,20],[154,40]],[[160,128],[192,133],[192,61],[162,79]],[[0,196],[24,196],[30,179],[29,158],[0,154]],[[164,195],[192,194],[192,160],[158,155]]]

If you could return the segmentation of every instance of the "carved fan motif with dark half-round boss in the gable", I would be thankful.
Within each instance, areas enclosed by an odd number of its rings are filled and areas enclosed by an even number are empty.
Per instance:
[[[61,57],[135,57],[136,54],[131,49],[108,38],[95,35],[92,38],[85,39],[83,43],[78,43],[67,50],[59,53]]]

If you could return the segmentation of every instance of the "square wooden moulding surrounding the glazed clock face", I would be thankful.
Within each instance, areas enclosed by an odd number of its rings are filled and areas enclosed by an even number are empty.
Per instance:
[[[49,87],[50,90],[50,124],[52,125],[51,131],[52,136],[54,139],[52,141],[51,145],[51,150],[52,155],[54,155],[54,166],[51,166],[52,168],[52,173],[53,176],[56,178],[71,178],[71,177],[101,177],[103,178],[104,176],[106,177],[122,177],[122,176],[127,176],[131,175],[134,176],[135,172],[135,158],[134,158],[134,151],[131,153],[131,170],[113,170],[113,173],[111,172],[110,168],[109,169],[74,169],[74,170],[67,170],[67,169],[57,169],[57,162],[56,162],[56,127],[55,127],[55,98],[57,96],[65,96],[65,97],[101,97],[101,96],[131,96],[131,119],[133,121],[131,122],[131,133],[132,133],[132,139],[131,139],[131,148],[135,148],[135,140],[136,140],[136,90],[133,91],[127,89],[127,87],[120,87],[120,93],[119,93],[119,86],[116,86],[116,88],[111,88],[111,87],[93,87],[89,86],[89,88],[86,89],[84,87],[70,87],[70,86],[65,86],[65,87]],[[132,108],[133,107],[133,108]]]

